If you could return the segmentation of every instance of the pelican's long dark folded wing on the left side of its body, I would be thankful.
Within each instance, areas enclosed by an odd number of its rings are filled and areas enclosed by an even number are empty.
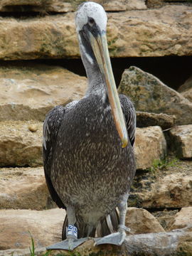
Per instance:
[[[63,202],[60,200],[58,193],[55,191],[51,182],[51,166],[53,161],[53,152],[55,150],[55,141],[58,136],[60,124],[65,114],[65,108],[62,106],[54,107],[46,115],[43,124],[43,167],[46,176],[46,183],[50,196],[59,208],[65,208]]]

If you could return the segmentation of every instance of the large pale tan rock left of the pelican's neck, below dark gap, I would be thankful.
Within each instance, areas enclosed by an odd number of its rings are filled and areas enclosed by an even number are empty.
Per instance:
[[[1,65],[0,83],[0,121],[43,121],[56,105],[79,100],[87,87],[86,78],[64,68],[31,63]]]

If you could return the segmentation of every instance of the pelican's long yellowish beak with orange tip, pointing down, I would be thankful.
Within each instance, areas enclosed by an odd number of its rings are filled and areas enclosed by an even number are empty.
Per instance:
[[[107,94],[110,100],[110,105],[112,108],[112,115],[114,117],[114,123],[119,133],[119,137],[122,141],[122,148],[127,146],[127,128],[124,122],[124,115],[122,112],[122,107],[119,101],[119,95],[117,93],[117,87],[114,82],[114,76],[112,73],[112,65],[110,62],[110,55],[107,47],[107,37],[106,33],[98,34],[97,37],[92,36],[89,32],[90,43],[92,50],[95,54],[95,58],[100,67],[100,71],[107,85]]]

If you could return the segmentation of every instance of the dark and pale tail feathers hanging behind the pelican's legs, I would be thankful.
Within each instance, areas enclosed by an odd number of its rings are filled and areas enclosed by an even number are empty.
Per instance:
[[[78,238],[86,238],[90,236],[91,238],[95,238],[95,233],[97,230],[97,237],[102,238],[105,235],[110,235],[111,233],[117,232],[119,225],[119,214],[117,210],[112,210],[112,213],[107,215],[100,223],[97,225],[97,229],[91,227],[90,225],[85,224],[82,220],[77,219],[75,223],[75,227],[78,228]],[[65,216],[65,220],[63,223],[63,231],[62,231],[62,240],[65,240],[66,237],[66,229],[68,228],[68,215]]]

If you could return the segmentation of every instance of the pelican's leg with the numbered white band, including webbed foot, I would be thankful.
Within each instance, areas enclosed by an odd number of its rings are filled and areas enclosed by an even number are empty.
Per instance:
[[[66,230],[66,240],[56,243],[55,245],[50,245],[47,250],[74,250],[75,247],[78,247],[85,242],[88,238],[78,239],[78,228],[75,227],[75,208],[67,207],[68,215],[68,228]]]

